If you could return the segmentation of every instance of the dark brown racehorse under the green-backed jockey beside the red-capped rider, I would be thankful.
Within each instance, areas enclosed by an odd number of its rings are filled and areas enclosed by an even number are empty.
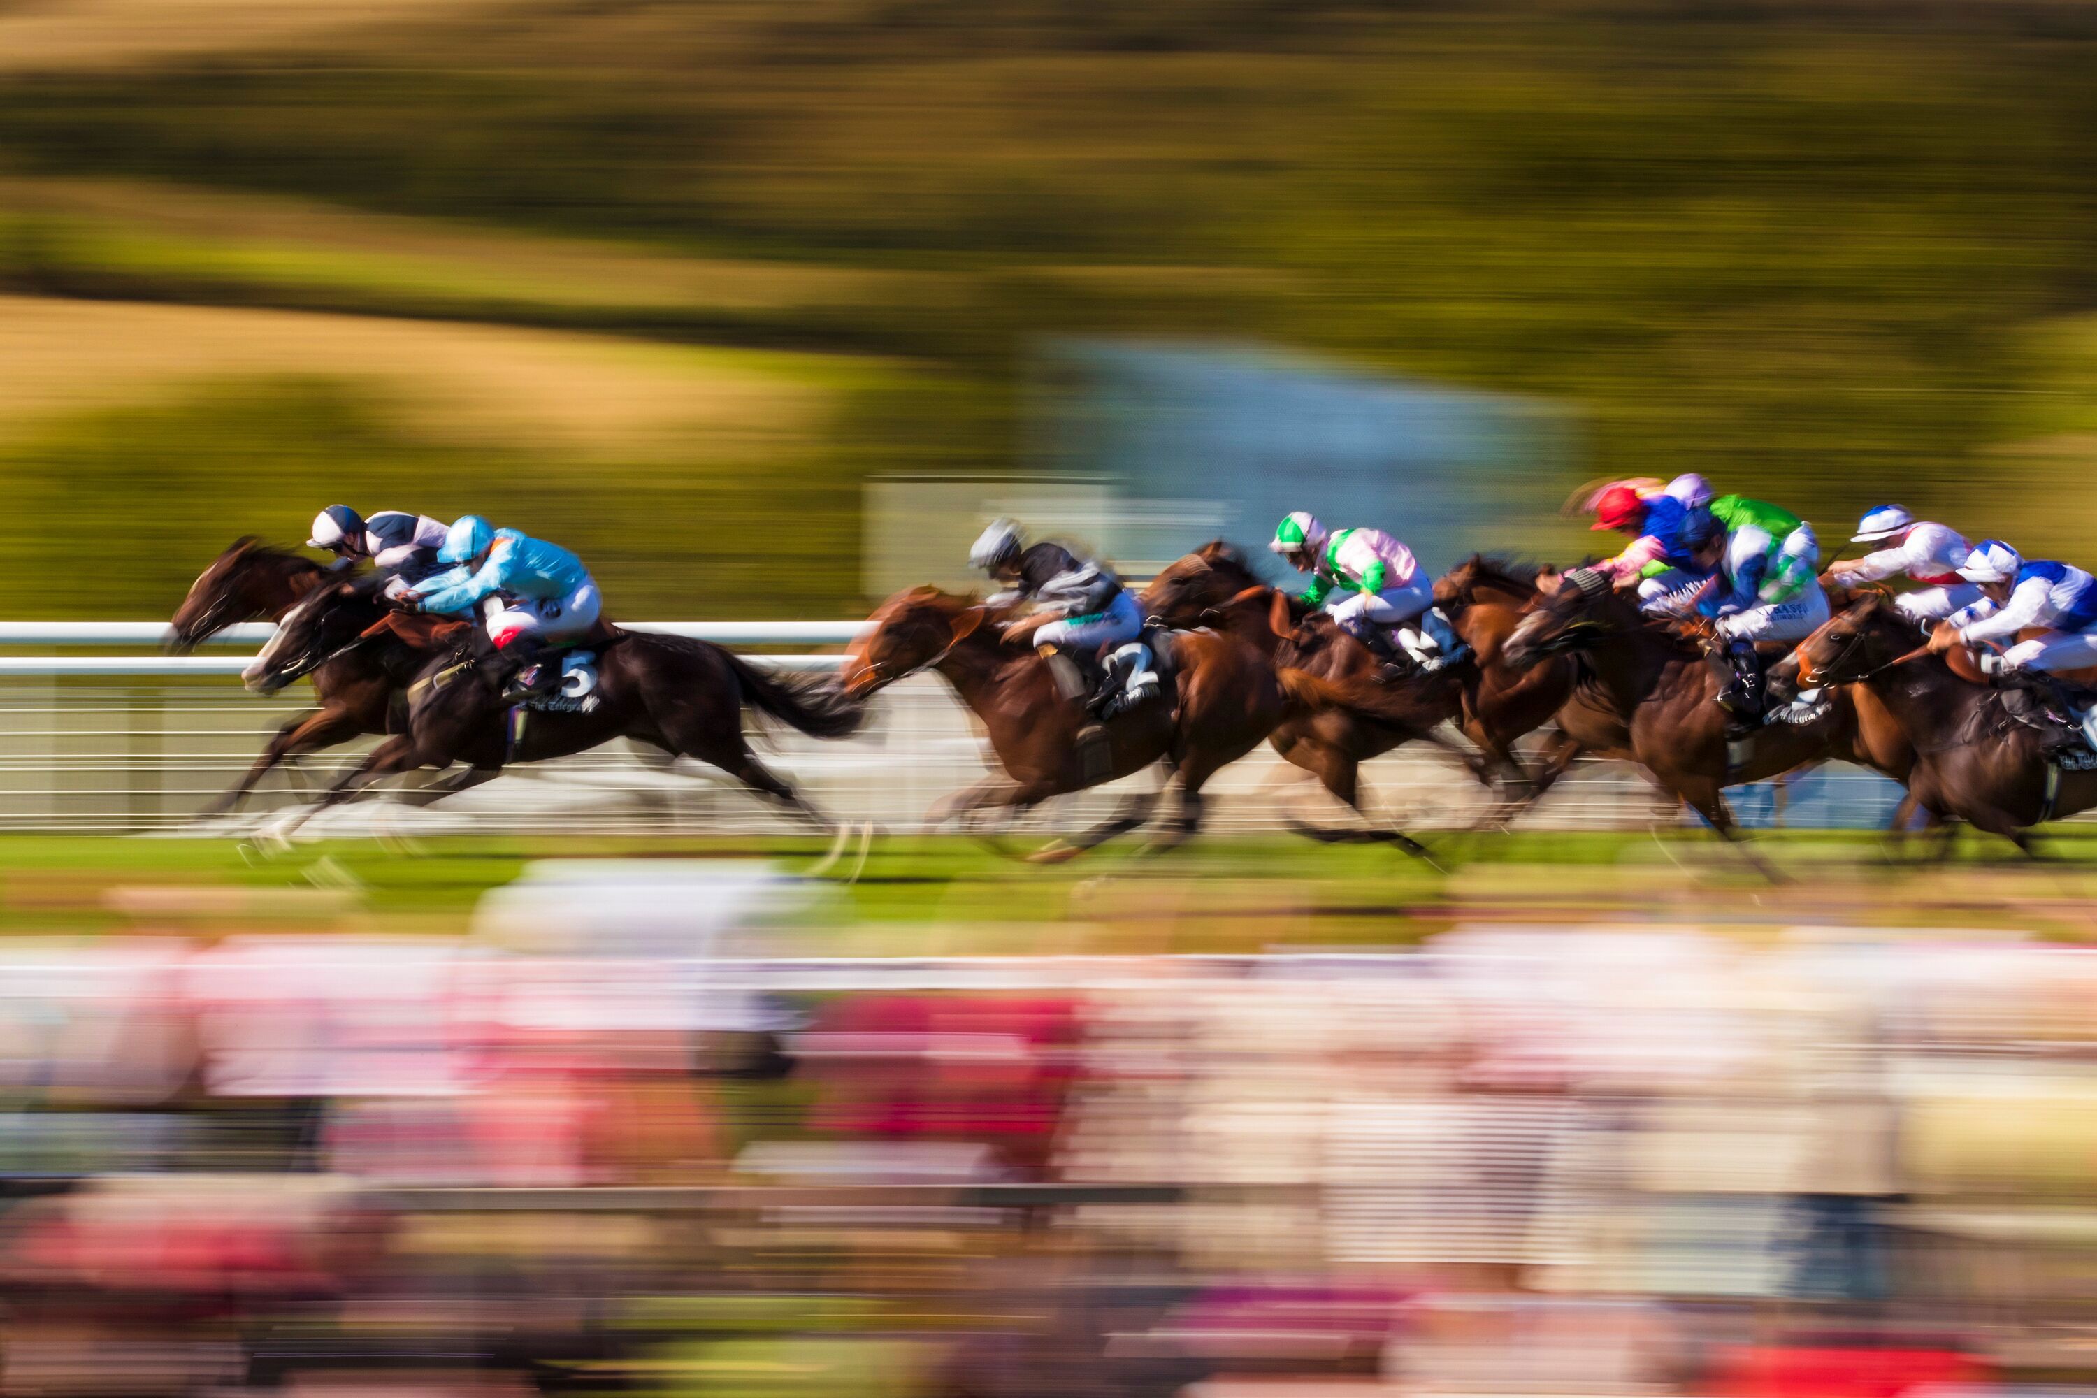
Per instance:
[[[1726,711],[1717,706],[1726,677],[1703,650],[1648,625],[1604,574],[1564,574],[1508,635],[1501,654],[1514,667],[1554,654],[1577,656],[1579,702],[1560,711],[1566,731],[1604,757],[1642,763],[1728,840],[1736,830],[1720,794],[1726,786],[1761,782],[1826,757],[1873,765],[1896,780],[1906,778],[1912,763],[1906,744],[1885,742],[1885,734],[1879,742],[1860,736],[1856,706],[1839,687],[1829,690],[1824,713],[1806,723],[1766,723],[1745,761],[1730,763]]]

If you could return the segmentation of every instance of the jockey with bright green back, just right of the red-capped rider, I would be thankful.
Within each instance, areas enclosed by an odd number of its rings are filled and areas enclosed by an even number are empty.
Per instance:
[[[1829,618],[1829,595],[1814,568],[1820,541],[1814,526],[1789,509],[1745,495],[1711,501],[1711,518],[1726,526],[1717,558],[1717,589],[1696,610],[1715,616],[1713,631],[1732,660],[1732,683],[1717,702],[1736,723],[1764,717],[1757,641],[1803,641]]]

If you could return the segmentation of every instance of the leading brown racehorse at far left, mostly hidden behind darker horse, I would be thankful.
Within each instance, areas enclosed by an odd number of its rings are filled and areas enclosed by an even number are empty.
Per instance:
[[[235,539],[189,585],[189,595],[168,622],[168,650],[187,654],[235,622],[283,620],[327,576],[325,568],[302,553],[275,549],[254,534]],[[298,761],[363,734],[384,734],[398,683],[403,681],[377,664],[369,650],[340,654],[315,667],[319,708],[285,719],[264,744],[262,757],[203,813],[218,815],[237,807],[277,763]]]

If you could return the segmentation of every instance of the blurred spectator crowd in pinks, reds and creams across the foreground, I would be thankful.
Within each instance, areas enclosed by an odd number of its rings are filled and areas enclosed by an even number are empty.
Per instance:
[[[2097,1381],[2076,947],[0,960],[4,1392]]]

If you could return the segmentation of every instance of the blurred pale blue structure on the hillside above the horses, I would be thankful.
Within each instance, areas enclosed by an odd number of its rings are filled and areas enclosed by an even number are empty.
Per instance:
[[[1388,528],[1441,572],[1493,547],[1495,520],[1506,547],[1506,511],[1566,478],[1562,419],[1522,398],[1155,342],[1053,342],[1036,371],[1036,463],[1114,484],[1134,526],[1109,549],[1130,566],[1218,532],[1258,547],[1311,509]]]

